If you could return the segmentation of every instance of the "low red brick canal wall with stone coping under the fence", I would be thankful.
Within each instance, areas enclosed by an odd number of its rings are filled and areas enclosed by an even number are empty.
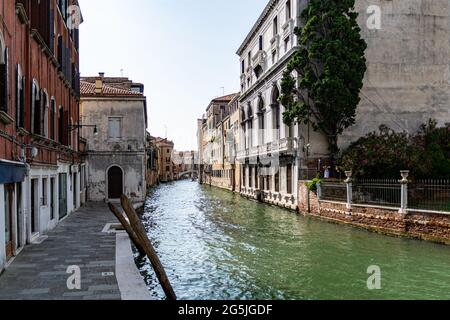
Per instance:
[[[306,216],[352,225],[393,236],[404,236],[450,245],[450,216],[410,212],[399,213],[398,208],[353,206],[334,201],[319,201],[307,187],[308,181],[299,182],[299,211]]]

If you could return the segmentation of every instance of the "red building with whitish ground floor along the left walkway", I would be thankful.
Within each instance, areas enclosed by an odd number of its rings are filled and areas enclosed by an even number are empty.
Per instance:
[[[0,1],[0,270],[83,202],[76,0]]]

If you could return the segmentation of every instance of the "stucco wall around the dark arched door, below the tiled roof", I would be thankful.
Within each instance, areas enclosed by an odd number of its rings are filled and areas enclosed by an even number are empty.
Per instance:
[[[145,98],[82,100],[83,123],[96,125],[83,129],[88,141],[88,200],[108,198],[108,169],[118,166],[123,171],[124,193],[134,201],[143,201],[146,194],[146,125]],[[108,137],[109,117],[121,118],[121,138]]]

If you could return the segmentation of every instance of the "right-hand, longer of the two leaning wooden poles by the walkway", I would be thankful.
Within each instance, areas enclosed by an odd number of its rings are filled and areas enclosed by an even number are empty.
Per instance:
[[[136,211],[134,210],[134,207],[131,205],[130,200],[125,195],[122,195],[120,201],[122,203],[123,210],[128,216],[128,220],[130,220],[131,227],[133,228],[133,231],[136,234],[137,240],[142,245],[145,253],[147,254],[153,266],[153,269],[155,270],[156,276],[158,277],[158,280],[164,290],[164,293],[166,294],[167,299],[177,300],[177,296],[173,291],[172,285],[170,284],[166,271],[164,270],[164,267],[161,261],[159,260],[158,255],[156,254],[156,251],[153,248],[147,236],[147,231],[145,230],[144,225],[139,219]]]

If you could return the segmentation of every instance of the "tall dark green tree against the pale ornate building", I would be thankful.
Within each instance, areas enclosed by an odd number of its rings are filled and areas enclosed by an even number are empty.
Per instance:
[[[367,44],[356,21],[355,0],[310,0],[296,28],[297,50],[284,72],[283,121],[310,124],[328,140],[333,164],[338,136],[354,125],[366,67]],[[332,166],[334,167],[334,165]]]

